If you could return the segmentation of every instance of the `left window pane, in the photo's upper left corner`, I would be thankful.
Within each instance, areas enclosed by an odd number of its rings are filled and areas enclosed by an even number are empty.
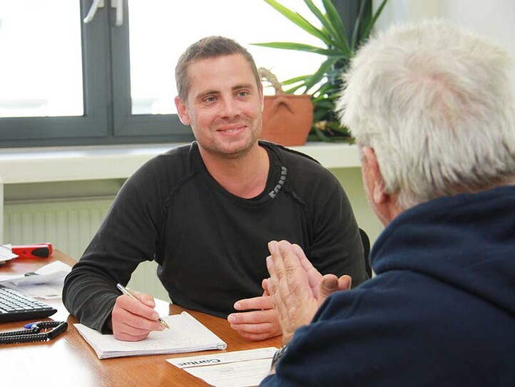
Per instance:
[[[79,5],[0,0],[0,117],[83,115]]]

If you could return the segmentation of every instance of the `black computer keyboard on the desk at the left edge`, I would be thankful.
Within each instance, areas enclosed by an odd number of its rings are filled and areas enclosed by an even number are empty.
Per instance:
[[[0,323],[29,319],[43,319],[57,309],[19,291],[0,285]]]

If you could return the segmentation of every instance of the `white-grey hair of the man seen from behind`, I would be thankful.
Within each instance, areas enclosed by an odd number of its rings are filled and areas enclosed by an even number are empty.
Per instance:
[[[465,29],[393,26],[353,58],[337,112],[406,210],[513,182],[513,73],[509,53]]]

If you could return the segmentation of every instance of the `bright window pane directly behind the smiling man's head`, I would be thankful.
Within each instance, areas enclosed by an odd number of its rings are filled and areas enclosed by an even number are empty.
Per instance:
[[[315,1],[320,6],[322,1]],[[315,26],[303,1],[282,0]],[[279,81],[314,73],[324,57],[314,53],[251,46],[250,43],[291,41],[320,46],[262,0],[130,0],[131,97],[133,114],[175,112],[175,63],[191,43],[222,35],[241,43],[254,56],[257,67],[270,69]],[[265,94],[273,93],[266,88]]]

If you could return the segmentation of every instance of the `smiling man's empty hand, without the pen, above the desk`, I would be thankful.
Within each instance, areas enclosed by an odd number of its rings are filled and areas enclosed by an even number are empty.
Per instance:
[[[243,312],[227,316],[230,327],[248,340],[265,340],[282,333],[266,279],[262,287],[265,290],[262,296],[236,301],[234,309]]]

